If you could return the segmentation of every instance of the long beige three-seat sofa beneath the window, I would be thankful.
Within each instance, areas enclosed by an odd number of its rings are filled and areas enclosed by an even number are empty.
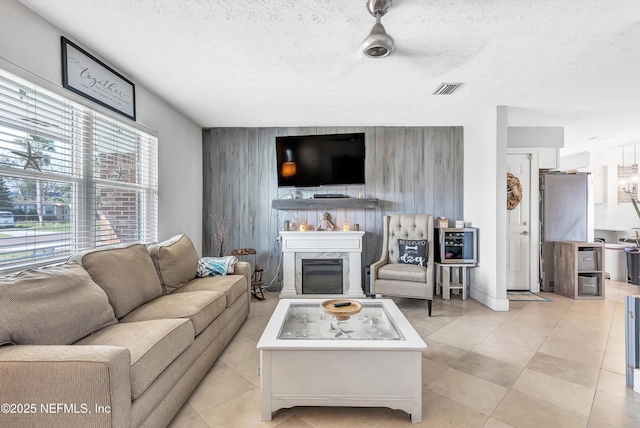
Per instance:
[[[249,264],[197,261],[178,235],[0,278],[0,426],[166,426],[249,313]]]

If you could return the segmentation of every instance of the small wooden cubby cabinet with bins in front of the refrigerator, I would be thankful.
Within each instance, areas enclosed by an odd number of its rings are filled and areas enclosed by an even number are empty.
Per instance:
[[[604,244],[554,243],[554,292],[572,299],[604,299]]]

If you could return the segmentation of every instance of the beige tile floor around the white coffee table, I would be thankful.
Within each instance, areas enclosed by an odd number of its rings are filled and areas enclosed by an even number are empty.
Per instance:
[[[473,299],[394,299],[429,348],[423,354],[423,422],[390,409],[292,408],[260,420],[256,344],[278,301],[251,314],[196,388],[173,428],[206,427],[639,427],[640,394],[624,376],[624,296],[640,287],[607,281],[605,300],[511,302],[493,312]],[[374,376],[375,367],[363,371]]]

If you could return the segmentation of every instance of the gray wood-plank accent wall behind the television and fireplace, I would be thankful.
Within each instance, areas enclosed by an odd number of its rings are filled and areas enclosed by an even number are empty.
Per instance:
[[[386,214],[432,214],[451,222],[463,219],[462,127],[212,128],[203,131],[203,256],[218,255],[215,218],[231,222],[225,254],[233,248],[255,248],[258,263],[268,268],[265,284],[279,289],[277,238],[284,220],[306,221],[315,228],[324,210],[271,209],[272,199],[295,191],[278,188],[275,138],[353,132],[365,133],[366,184],[302,188],[297,196],[344,193],[357,197],[362,192],[380,199],[378,209],[327,210],[337,228],[358,223],[367,232],[363,266],[380,257],[381,220]]]

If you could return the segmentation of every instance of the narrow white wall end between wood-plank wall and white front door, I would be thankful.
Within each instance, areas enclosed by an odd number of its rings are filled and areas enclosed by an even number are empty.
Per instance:
[[[477,112],[464,125],[464,219],[479,228],[471,297],[508,311],[506,277],[506,107]]]

